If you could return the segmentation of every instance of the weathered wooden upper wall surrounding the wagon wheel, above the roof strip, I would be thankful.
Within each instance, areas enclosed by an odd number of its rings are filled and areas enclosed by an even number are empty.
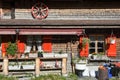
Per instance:
[[[35,0],[3,0],[3,19],[33,19],[31,8],[38,3]],[[78,1],[43,1],[48,8],[47,20],[73,19],[118,19],[120,1],[117,0],[78,0]],[[112,5],[111,5],[112,4]],[[71,6],[72,5],[72,6]],[[12,17],[11,17],[12,16]]]

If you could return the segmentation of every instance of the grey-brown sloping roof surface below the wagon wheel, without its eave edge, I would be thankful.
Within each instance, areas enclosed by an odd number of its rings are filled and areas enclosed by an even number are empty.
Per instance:
[[[120,20],[28,20],[28,19],[1,19],[1,25],[53,25],[53,26],[61,26],[61,25],[120,25]]]

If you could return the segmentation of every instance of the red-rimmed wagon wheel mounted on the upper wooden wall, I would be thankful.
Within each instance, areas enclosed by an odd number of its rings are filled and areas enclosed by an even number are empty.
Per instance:
[[[43,3],[32,6],[32,15],[36,19],[44,19],[48,16],[48,7]]]

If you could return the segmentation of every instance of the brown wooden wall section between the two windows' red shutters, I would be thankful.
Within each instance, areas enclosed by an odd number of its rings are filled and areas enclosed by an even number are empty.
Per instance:
[[[63,51],[64,53],[78,53],[79,39],[78,36],[53,36],[52,50],[55,53]]]

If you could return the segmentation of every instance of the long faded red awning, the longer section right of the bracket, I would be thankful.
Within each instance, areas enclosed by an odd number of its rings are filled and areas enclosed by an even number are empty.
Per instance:
[[[82,29],[21,29],[20,35],[77,35],[81,34]]]

